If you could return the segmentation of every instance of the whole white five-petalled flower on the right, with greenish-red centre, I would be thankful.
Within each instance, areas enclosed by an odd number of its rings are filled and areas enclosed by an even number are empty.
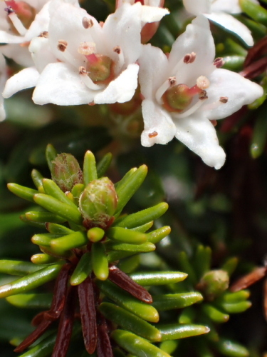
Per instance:
[[[215,59],[209,21],[197,16],[174,42],[169,58],[143,45],[140,85],[144,96],[143,146],[167,144],[174,136],[209,166],[224,165],[211,120],[222,119],[263,94],[263,89]]]

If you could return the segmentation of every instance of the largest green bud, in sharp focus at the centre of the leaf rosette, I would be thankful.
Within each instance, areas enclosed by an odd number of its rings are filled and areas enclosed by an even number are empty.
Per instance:
[[[110,179],[103,177],[91,181],[80,195],[79,208],[86,228],[108,228],[117,208],[117,193]]]

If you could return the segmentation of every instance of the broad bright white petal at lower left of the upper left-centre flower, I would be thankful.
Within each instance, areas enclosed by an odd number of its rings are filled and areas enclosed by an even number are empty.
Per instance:
[[[61,62],[48,64],[41,73],[33,91],[35,104],[53,103],[59,106],[89,104],[93,101],[95,91],[83,83],[78,71]]]

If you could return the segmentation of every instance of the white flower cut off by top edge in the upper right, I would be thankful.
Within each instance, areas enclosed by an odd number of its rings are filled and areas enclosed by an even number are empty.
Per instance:
[[[257,0],[251,0],[258,4]],[[183,0],[185,9],[193,15],[204,14],[208,19],[234,32],[248,46],[253,46],[251,31],[230,14],[241,13],[239,0]]]

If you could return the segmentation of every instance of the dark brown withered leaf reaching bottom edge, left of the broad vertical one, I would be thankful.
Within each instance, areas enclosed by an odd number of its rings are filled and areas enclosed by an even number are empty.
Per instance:
[[[75,315],[76,287],[70,286],[66,296],[66,302],[61,313],[61,320],[58,326],[58,335],[51,357],[65,357],[70,344],[71,333],[73,331],[73,321]]]

